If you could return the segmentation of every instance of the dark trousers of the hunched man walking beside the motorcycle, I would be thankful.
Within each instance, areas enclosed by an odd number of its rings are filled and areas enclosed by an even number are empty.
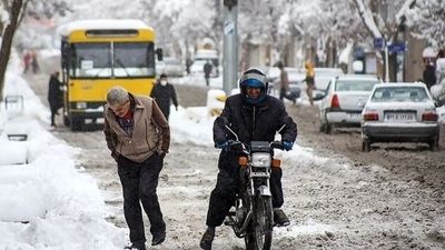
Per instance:
[[[157,237],[166,231],[156,193],[162,163],[164,159],[158,153],[154,153],[142,163],[134,162],[122,156],[118,159],[118,173],[123,192],[123,213],[132,243],[146,242],[140,203],[150,221],[151,234]]]

